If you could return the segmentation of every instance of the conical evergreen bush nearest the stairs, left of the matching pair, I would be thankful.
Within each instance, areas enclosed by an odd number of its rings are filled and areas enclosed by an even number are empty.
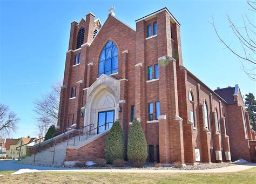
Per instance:
[[[105,158],[110,164],[116,159],[124,159],[124,135],[119,121],[114,122],[107,135]]]

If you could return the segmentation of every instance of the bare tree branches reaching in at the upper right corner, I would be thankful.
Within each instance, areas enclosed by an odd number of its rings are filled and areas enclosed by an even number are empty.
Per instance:
[[[230,24],[230,28],[232,30],[232,33],[234,34],[234,38],[240,43],[241,47],[239,50],[235,50],[231,44],[228,44],[224,38],[222,38],[217,31],[217,28],[214,24],[214,18],[212,16],[212,26],[214,28],[215,33],[217,34],[219,40],[221,43],[225,45],[225,47],[230,50],[235,56],[237,56],[241,62],[241,69],[247,74],[248,77],[250,77],[253,80],[256,80],[256,58],[255,58],[255,53],[256,53],[256,40],[255,40],[255,35],[256,35],[256,25],[255,25],[255,12],[256,12],[256,1],[252,0],[246,1],[249,8],[248,11],[250,13],[253,13],[253,20],[250,20],[248,18],[247,14],[242,15],[242,21],[243,25],[237,26],[235,23],[232,21],[230,16],[227,15],[227,21]]]

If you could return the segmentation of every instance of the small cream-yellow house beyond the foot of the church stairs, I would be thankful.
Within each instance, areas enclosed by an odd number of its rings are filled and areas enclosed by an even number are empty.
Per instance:
[[[16,150],[16,148],[19,147],[19,146],[28,144],[28,145],[25,145],[25,146],[21,147],[21,154],[20,154],[20,156],[21,157],[26,156],[26,146],[33,146],[33,145],[35,145],[36,141],[32,142],[35,139],[37,139],[37,138],[20,138],[20,139],[17,139],[16,141],[12,142],[12,144],[10,144],[10,149],[9,149],[8,157],[18,158],[19,151]],[[18,149],[20,149],[20,148],[18,148]]]

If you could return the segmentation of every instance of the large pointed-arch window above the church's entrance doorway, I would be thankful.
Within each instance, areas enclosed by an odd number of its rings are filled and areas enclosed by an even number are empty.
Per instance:
[[[104,74],[118,72],[118,50],[116,44],[109,41],[104,46],[99,57],[98,77]]]

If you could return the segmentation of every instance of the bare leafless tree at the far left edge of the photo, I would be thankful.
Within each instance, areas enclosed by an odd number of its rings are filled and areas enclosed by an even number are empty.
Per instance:
[[[16,132],[19,120],[7,105],[0,104],[0,135],[6,137]]]

